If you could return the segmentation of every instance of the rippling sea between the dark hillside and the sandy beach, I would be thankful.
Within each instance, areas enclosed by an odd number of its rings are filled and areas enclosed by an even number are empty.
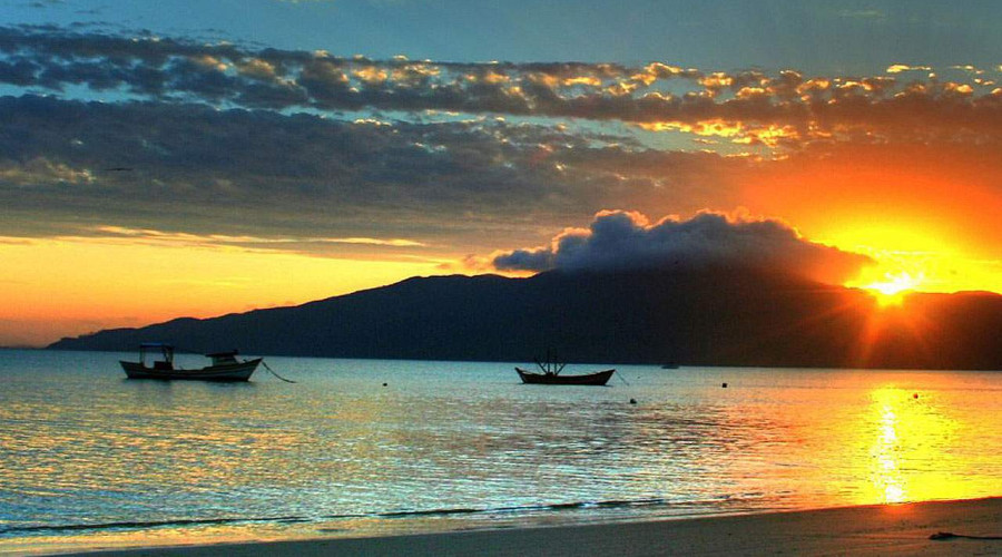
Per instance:
[[[1002,495],[1000,372],[617,365],[597,388],[265,358],[296,383],[215,384],[127,380],[134,356],[0,350],[0,554]]]

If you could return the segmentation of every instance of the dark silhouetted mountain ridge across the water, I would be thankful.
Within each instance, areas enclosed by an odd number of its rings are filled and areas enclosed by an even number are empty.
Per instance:
[[[1002,368],[1002,296],[866,293],[748,272],[410,278],[317,302],[63,339],[50,349],[689,365]]]

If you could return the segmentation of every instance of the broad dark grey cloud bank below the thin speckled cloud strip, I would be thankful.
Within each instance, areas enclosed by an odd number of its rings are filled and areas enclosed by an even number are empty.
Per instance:
[[[117,225],[429,244],[465,236],[490,252],[503,247],[498,238],[538,242],[543,223],[608,206],[667,199],[695,211],[707,192],[687,176],[747,164],[493,119],[384,125],[23,96],[0,97],[0,235]],[[726,180],[713,187],[726,196]]]

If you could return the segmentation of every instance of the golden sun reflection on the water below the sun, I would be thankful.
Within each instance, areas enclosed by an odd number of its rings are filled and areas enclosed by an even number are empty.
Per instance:
[[[998,446],[996,418],[990,411],[996,394],[959,388],[932,372],[815,373],[806,381],[819,389],[770,389],[768,401],[753,397],[728,409],[723,429],[739,429],[754,441],[728,446],[726,458],[697,466],[739,478],[738,489],[746,492],[782,486],[800,508],[998,492],[996,481],[985,476],[998,466],[991,450]],[[727,395],[739,389],[731,384]]]

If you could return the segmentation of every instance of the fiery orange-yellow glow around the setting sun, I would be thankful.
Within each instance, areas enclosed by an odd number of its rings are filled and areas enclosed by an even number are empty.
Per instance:
[[[741,203],[812,242],[870,256],[874,265],[845,285],[883,302],[906,290],[1002,293],[1002,197],[964,157],[845,147],[764,167],[745,180]]]

